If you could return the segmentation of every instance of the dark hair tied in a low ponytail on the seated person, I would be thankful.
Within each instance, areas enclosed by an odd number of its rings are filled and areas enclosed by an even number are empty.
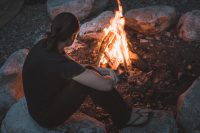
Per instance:
[[[71,39],[79,29],[79,20],[72,13],[58,14],[52,21],[51,31],[47,32],[47,48],[57,50],[58,42]]]

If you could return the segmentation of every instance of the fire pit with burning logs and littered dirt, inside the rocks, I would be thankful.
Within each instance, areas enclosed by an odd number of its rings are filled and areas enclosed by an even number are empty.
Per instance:
[[[87,47],[70,55],[81,64],[115,70],[119,76],[117,91],[130,106],[176,114],[178,97],[200,74],[200,56],[193,54],[200,53],[200,49],[179,39],[174,27],[156,35],[133,31],[124,19],[120,0],[117,3],[118,10],[97,45],[85,41]],[[81,111],[107,123],[108,132],[117,132],[109,114],[90,98]]]

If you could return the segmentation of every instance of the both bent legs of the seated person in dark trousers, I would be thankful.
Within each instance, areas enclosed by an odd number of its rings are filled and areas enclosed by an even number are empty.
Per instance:
[[[119,93],[111,91],[98,91],[73,81],[54,98],[49,107],[44,127],[56,127],[67,120],[79,109],[86,96],[90,95],[93,101],[100,105],[112,116],[114,124],[122,128],[130,119],[131,108],[124,102]]]

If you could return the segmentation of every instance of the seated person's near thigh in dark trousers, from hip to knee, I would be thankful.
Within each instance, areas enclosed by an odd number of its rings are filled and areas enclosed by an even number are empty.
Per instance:
[[[53,98],[53,102],[41,117],[40,125],[46,128],[62,125],[79,109],[87,96],[82,86],[72,80]]]

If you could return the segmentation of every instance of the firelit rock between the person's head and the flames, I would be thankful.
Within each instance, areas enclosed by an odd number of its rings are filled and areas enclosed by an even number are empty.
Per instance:
[[[79,37],[81,40],[99,40],[103,36],[103,29],[108,27],[114,17],[112,11],[105,11],[93,20],[81,26]]]

